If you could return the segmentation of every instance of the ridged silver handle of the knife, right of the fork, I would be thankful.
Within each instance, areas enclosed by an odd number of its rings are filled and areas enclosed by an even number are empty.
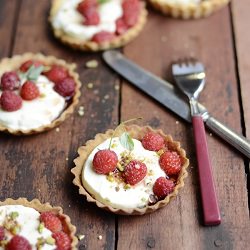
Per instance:
[[[209,116],[206,119],[207,127],[214,132],[215,134],[219,135],[229,144],[234,146],[238,149],[241,153],[243,153],[246,157],[250,158],[250,141],[247,140],[244,136],[237,134],[236,132],[232,131],[230,128],[216,120],[215,118]]]

